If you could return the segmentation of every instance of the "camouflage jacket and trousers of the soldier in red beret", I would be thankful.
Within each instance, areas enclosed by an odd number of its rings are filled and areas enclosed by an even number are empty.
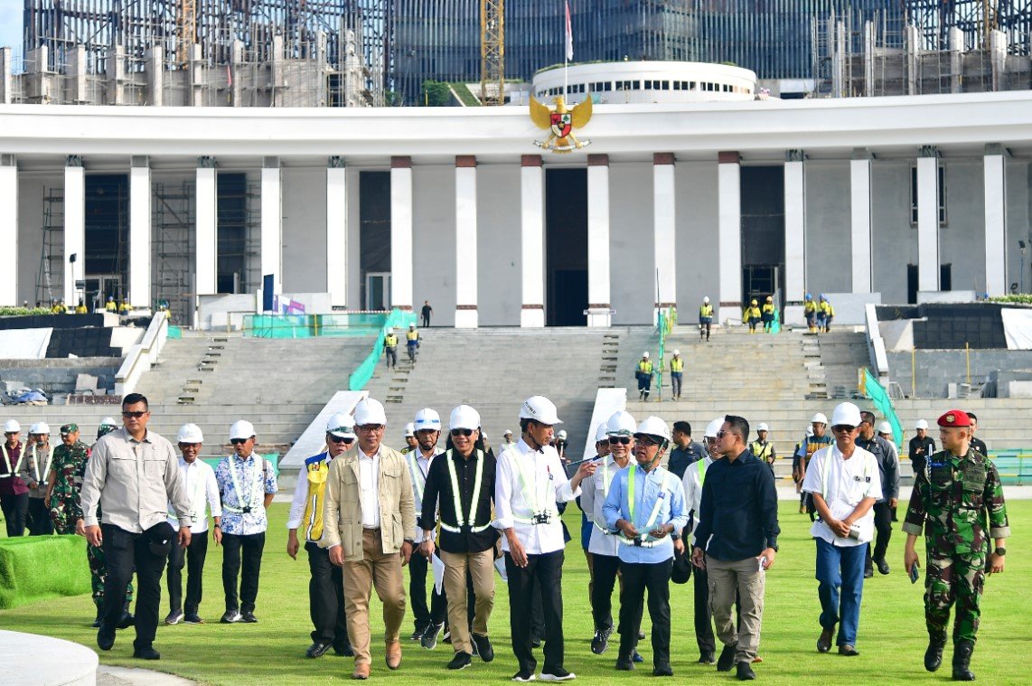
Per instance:
[[[987,524],[988,516],[988,524]],[[917,472],[903,531],[925,532],[925,619],[933,643],[945,644],[949,608],[957,603],[954,645],[973,645],[986,581],[990,538],[1010,535],[1000,475],[985,455],[932,455]],[[987,532],[988,529],[988,532]]]

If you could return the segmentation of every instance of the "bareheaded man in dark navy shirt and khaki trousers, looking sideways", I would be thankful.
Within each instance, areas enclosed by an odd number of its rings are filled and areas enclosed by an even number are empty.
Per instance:
[[[766,574],[781,532],[777,490],[770,468],[745,446],[747,421],[728,415],[716,435],[716,452],[727,459],[706,470],[691,561],[709,575],[710,607],[723,644],[717,672],[737,664],[738,678],[746,681],[756,678],[751,663],[760,646]],[[732,614],[736,591],[741,610],[737,633]]]

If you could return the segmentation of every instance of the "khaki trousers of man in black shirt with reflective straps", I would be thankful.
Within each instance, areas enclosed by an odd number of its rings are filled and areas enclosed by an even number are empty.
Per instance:
[[[473,578],[476,597],[473,632],[487,635],[487,620],[494,608],[494,548],[480,553],[448,553],[441,551],[445,563],[445,595],[448,596],[448,624],[451,626],[452,648],[455,652],[473,654],[470,642],[469,609],[466,608],[465,573]]]

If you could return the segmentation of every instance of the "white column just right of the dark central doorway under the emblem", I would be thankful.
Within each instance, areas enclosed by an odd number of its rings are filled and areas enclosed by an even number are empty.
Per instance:
[[[609,326],[609,156],[587,156],[587,325]]]

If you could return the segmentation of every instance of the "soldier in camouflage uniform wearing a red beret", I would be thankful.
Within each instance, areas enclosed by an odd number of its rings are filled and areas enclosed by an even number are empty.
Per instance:
[[[908,574],[920,566],[914,542],[924,529],[928,559],[925,668],[935,672],[942,663],[949,608],[956,602],[953,678],[974,681],[970,664],[981,589],[987,573],[1003,571],[1004,544],[1010,528],[996,466],[970,449],[967,415],[959,410],[947,412],[939,418],[939,427],[944,450],[929,457],[916,475],[903,524],[907,534],[903,563]],[[991,554],[990,537],[995,540]]]

